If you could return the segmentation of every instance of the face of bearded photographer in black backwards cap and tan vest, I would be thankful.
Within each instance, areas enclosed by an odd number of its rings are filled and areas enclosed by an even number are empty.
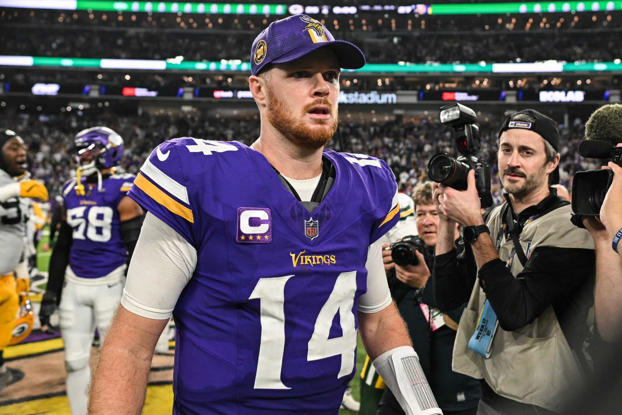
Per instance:
[[[545,185],[557,162],[546,162],[544,139],[534,131],[513,128],[499,139],[499,175],[503,188],[523,197]]]

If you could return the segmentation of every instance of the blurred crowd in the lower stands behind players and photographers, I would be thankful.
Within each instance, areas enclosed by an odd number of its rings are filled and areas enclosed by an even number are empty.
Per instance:
[[[9,117],[2,119],[0,124],[2,128],[14,129],[26,139],[34,157],[33,174],[45,180],[50,195],[58,194],[60,186],[74,174],[73,136],[77,131],[95,125],[109,126],[123,136],[126,149],[121,167],[132,174],[138,172],[154,147],[167,139],[192,136],[214,141],[236,140],[250,145],[259,136],[259,122],[254,118],[202,118],[183,114],[78,116],[61,113],[52,117]],[[497,203],[502,200],[496,168],[499,126],[499,123],[480,124],[480,156],[493,169],[493,197]],[[572,125],[560,126],[560,183],[569,188],[576,171],[597,168],[595,162],[578,156],[577,146],[584,136],[583,131],[583,123],[578,118]],[[425,166],[432,155],[448,152],[458,156],[451,129],[428,119],[415,122],[395,119],[381,123],[342,121],[340,133],[347,152],[386,160],[396,175],[400,190],[409,195],[424,179]],[[329,146],[339,149],[335,139]]]

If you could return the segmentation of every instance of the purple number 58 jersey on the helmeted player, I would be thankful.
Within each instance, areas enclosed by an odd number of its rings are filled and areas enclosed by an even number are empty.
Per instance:
[[[84,196],[76,194],[76,179],[63,185],[67,223],[73,228],[69,265],[78,277],[103,277],[128,260],[117,207],[135,178],[133,174],[111,175],[102,181],[101,192],[82,179]]]

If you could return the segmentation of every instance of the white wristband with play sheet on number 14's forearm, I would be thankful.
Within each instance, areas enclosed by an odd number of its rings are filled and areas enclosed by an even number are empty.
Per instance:
[[[392,348],[373,365],[407,415],[443,415],[411,346]]]

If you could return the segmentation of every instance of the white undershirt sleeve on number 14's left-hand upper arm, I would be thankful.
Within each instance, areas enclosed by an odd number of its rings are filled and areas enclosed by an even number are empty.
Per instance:
[[[121,305],[147,319],[169,319],[196,266],[197,250],[147,212],[129,264]]]

